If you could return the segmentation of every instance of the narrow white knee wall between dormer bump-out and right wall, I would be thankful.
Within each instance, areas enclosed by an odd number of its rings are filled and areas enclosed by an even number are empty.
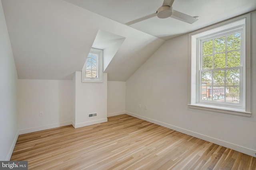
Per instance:
[[[125,82],[108,81],[108,117],[125,114]]]

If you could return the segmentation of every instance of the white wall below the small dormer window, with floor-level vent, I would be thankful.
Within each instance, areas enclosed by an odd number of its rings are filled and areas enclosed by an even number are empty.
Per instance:
[[[75,128],[108,121],[107,119],[107,74],[102,83],[82,83],[81,72],[75,73]],[[98,113],[88,118],[89,113]]]

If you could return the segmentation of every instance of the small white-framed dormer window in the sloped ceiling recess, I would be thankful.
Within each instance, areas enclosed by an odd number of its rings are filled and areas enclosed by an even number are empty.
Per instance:
[[[82,69],[82,82],[103,82],[103,50],[91,49]]]

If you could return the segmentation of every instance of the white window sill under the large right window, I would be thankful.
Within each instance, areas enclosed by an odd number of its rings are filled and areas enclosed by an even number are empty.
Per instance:
[[[188,104],[188,107],[192,109],[214,111],[219,113],[226,113],[226,114],[239,115],[239,116],[245,116],[245,117],[251,117],[251,114],[252,114],[250,112],[244,111],[244,109],[237,109],[232,107],[210,106],[210,105],[204,105],[204,104]]]

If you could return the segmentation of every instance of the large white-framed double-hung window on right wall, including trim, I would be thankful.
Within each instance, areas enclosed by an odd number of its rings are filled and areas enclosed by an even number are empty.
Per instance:
[[[190,34],[189,107],[251,115],[249,21],[244,16]]]

